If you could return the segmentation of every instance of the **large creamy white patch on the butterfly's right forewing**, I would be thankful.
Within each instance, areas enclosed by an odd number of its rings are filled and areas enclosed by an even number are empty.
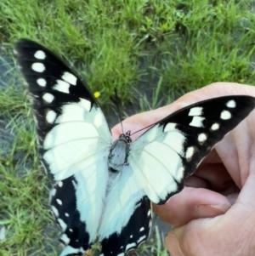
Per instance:
[[[184,175],[180,156],[184,156],[185,137],[175,127],[174,123],[168,123],[165,133],[162,133],[156,125],[131,146],[129,164],[133,174],[144,187],[146,195],[155,203],[168,193],[177,191],[176,180],[180,181]],[[151,134],[157,131],[156,140],[151,141]]]

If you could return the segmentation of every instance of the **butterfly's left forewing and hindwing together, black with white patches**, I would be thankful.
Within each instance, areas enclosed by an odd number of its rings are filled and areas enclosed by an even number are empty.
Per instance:
[[[15,54],[28,83],[42,164],[56,180],[50,204],[66,246],[61,256],[81,254],[97,236],[111,133],[87,85],[62,60],[26,39],[16,43]]]

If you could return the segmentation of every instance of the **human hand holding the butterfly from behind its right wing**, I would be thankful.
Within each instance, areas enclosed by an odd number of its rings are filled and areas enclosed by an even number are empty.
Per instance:
[[[255,88],[213,83],[185,94],[171,105],[129,117],[123,127],[135,132],[186,105],[230,94],[255,96]],[[255,255],[254,123],[252,111],[185,180],[183,191],[165,205],[153,206],[161,219],[175,226],[166,239],[173,256]],[[120,125],[112,129],[116,138],[121,133]],[[133,140],[139,136],[134,135]]]

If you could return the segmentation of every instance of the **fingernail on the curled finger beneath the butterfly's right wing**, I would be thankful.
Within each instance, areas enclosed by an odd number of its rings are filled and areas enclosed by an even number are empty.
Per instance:
[[[217,216],[219,214],[226,213],[227,210],[230,208],[229,203],[223,203],[223,204],[201,204],[198,205],[195,210],[196,213],[198,213],[201,217],[211,217],[211,216]]]

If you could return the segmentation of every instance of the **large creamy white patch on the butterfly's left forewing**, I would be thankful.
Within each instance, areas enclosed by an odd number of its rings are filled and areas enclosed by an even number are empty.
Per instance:
[[[57,125],[46,135],[43,143],[47,151],[42,157],[56,180],[66,179],[84,169],[88,173],[89,170],[94,171],[96,159],[102,157],[107,162],[105,157],[109,155],[111,145],[108,128],[97,127],[92,122],[95,115],[104,121],[99,109],[88,112],[82,105],[71,103],[63,106],[62,112],[55,121]],[[53,116],[48,119],[52,121]]]

